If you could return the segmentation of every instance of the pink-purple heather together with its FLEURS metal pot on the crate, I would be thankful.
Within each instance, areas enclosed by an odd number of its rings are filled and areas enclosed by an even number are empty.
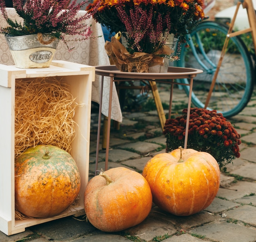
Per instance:
[[[48,67],[59,40],[71,50],[68,42],[93,37],[90,26],[85,23],[91,13],[77,15],[88,2],[69,2],[70,0],[15,0],[13,8],[18,18],[11,19],[5,1],[0,0],[0,11],[7,22],[6,26],[0,27],[0,33],[5,35],[17,67]]]

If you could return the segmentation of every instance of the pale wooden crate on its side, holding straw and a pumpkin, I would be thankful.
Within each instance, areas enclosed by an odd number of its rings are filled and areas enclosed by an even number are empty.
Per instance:
[[[79,206],[71,206],[66,211],[52,218],[15,220],[14,204],[14,114],[15,80],[53,77],[60,78],[70,87],[70,93],[77,107],[74,115],[76,137],[72,142],[72,156],[77,163],[81,176]],[[89,147],[90,147],[90,112],[92,81],[95,68],[64,61],[54,61],[49,68],[19,69],[14,66],[0,65],[0,231],[7,235],[25,231],[26,227],[41,224],[70,215],[80,216],[84,211],[84,191],[88,183]]]

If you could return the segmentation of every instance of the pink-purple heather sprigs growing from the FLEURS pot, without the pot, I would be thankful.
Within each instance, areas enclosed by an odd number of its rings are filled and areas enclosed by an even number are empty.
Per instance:
[[[76,4],[74,0],[67,6],[69,2],[70,0],[15,0],[13,7],[23,20],[17,22],[9,18],[5,1],[0,0],[1,13],[9,24],[1,27],[0,33],[8,36],[46,34],[53,39],[62,40],[71,50],[67,45],[67,42],[72,41],[66,39],[68,35],[78,35],[79,37],[74,38],[76,41],[93,38],[90,26],[83,21],[89,19],[94,12],[76,18],[76,14],[87,1]]]

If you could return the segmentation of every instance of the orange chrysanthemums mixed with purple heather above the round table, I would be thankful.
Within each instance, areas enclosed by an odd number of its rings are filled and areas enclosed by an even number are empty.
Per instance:
[[[165,44],[163,31],[186,41],[204,19],[202,5],[202,0],[94,0],[86,10],[110,32],[125,33],[129,53],[155,53]]]

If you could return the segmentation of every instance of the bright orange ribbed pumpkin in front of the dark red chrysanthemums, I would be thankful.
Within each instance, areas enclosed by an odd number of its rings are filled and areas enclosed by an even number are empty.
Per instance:
[[[142,174],[150,185],[153,202],[177,216],[208,207],[220,185],[220,169],[213,156],[181,147],[151,158]]]

